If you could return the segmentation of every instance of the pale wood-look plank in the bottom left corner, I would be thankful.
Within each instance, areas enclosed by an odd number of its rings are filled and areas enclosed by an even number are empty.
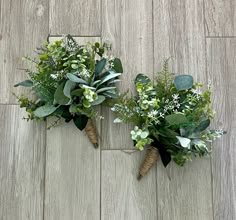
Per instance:
[[[45,126],[0,105],[0,219],[43,219]]]

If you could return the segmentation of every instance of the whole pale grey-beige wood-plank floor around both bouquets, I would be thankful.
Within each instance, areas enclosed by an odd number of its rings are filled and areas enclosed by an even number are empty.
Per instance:
[[[139,72],[154,77],[165,58],[214,90],[214,126],[228,134],[211,158],[184,168],[161,163],[136,180],[145,152],[130,127],[101,109],[100,149],[72,124],[46,130],[22,120],[11,91],[21,57],[45,40],[110,40],[123,60],[120,88]],[[235,220],[235,0],[0,0],[0,220]],[[25,90],[24,90],[25,91]]]

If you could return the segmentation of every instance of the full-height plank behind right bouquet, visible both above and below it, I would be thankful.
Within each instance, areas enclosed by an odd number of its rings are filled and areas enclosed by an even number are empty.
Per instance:
[[[203,1],[154,1],[153,14],[155,70],[171,57],[173,72],[206,83]],[[158,218],[212,219],[210,160],[194,161],[182,169],[171,164],[166,171],[171,181],[158,166]]]

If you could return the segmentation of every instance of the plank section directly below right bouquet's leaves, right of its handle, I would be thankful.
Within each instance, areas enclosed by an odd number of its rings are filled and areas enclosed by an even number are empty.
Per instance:
[[[209,159],[198,158],[185,167],[158,164],[158,219],[213,220],[211,195]]]

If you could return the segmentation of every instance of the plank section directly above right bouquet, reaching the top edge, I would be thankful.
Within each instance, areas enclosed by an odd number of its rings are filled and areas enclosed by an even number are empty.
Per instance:
[[[154,1],[154,68],[170,59],[174,73],[206,82],[202,0]]]

